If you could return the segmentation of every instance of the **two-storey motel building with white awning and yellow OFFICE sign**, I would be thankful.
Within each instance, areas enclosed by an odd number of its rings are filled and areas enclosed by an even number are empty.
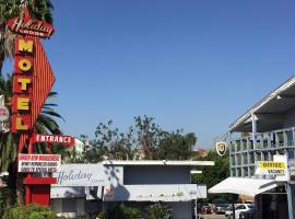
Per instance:
[[[255,197],[258,219],[294,219],[295,76],[229,126],[228,146],[231,177],[209,193]]]

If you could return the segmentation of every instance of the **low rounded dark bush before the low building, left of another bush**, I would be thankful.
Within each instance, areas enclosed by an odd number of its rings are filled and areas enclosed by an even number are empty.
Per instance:
[[[105,219],[140,219],[141,214],[138,208],[116,205],[105,212]]]

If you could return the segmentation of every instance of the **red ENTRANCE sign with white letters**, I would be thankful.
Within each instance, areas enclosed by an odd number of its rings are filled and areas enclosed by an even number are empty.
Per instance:
[[[74,138],[71,136],[34,134],[33,142],[47,142],[47,143],[60,143],[64,146],[73,146]]]

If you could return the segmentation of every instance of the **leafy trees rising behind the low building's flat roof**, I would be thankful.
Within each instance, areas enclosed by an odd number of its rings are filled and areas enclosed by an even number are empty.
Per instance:
[[[113,127],[113,120],[99,123],[95,139],[90,140],[80,159],[84,162],[113,160],[187,160],[191,158],[197,141],[194,134],[184,135],[182,130],[167,131],[153,117],[137,116],[134,125],[126,132]],[[85,138],[85,136],[83,136]]]

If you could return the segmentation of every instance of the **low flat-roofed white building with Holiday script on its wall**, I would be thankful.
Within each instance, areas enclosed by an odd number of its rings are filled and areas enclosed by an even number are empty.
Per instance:
[[[50,205],[58,216],[97,215],[116,205],[138,207],[165,201],[175,219],[192,218],[192,201],[206,198],[206,186],[191,184],[191,171],[213,161],[103,161],[62,164],[54,174]]]

